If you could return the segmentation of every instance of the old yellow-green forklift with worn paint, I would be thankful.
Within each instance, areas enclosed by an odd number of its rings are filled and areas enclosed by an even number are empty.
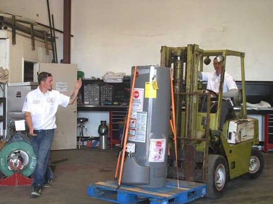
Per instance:
[[[220,128],[225,65],[228,56],[240,58],[242,88]],[[203,50],[197,44],[161,47],[161,66],[173,67],[177,162],[174,143],[169,144],[167,177],[206,183],[206,197],[219,198],[228,180],[244,175],[257,179],[264,167],[258,120],[247,117],[244,53]],[[204,65],[216,59],[222,65],[219,93],[207,90],[198,79]],[[171,140],[170,140],[171,141]]]

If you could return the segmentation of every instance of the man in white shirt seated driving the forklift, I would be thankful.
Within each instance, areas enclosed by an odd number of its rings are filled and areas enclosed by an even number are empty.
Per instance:
[[[206,89],[212,90],[218,94],[220,80],[221,80],[222,65],[221,63],[217,62],[216,58],[214,58],[213,66],[214,66],[215,72],[199,72],[198,78],[201,81],[207,82]],[[223,101],[222,101],[220,124],[219,124],[220,130],[223,129],[226,115],[233,106],[230,98],[236,96],[237,90],[238,88],[232,75],[228,74],[225,71],[224,83],[223,83]]]

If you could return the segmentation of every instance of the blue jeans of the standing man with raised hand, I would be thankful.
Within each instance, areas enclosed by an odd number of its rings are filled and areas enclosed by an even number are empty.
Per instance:
[[[54,130],[34,130],[37,136],[31,136],[31,143],[36,155],[37,165],[33,173],[32,187],[37,184],[43,188],[46,179],[53,179],[53,173],[48,166],[49,151],[53,141]]]

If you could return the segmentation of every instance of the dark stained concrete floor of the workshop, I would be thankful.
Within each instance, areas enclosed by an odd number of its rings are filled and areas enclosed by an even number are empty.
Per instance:
[[[220,199],[200,198],[191,203],[272,203],[273,154],[264,154],[265,168],[258,180],[241,177],[229,181]],[[87,196],[90,183],[113,180],[116,157],[111,149],[83,149],[52,151],[50,158],[68,161],[58,163],[54,182],[38,198],[30,196],[31,187],[0,187],[0,203],[109,203]]]

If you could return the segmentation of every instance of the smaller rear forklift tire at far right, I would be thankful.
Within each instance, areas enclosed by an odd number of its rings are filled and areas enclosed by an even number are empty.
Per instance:
[[[264,158],[261,151],[257,149],[251,150],[249,171],[246,173],[247,179],[257,179],[263,172]]]

